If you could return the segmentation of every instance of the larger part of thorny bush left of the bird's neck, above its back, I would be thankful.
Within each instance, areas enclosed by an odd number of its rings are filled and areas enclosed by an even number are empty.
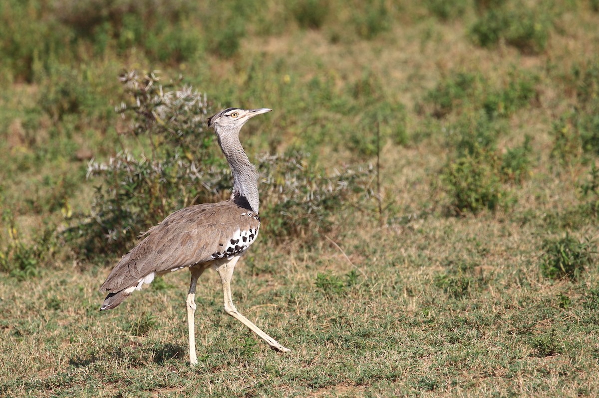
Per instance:
[[[129,99],[117,112],[129,116],[128,134],[147,137],[152,157],[122,151],[107,163],[89,164],[87,176],[100,182],[92,217],[81,215],[65,232],[81,256],[123,252],[173,210],[222,197],[230,178],[213,134],[202,127],[207,105],[201,94],[190,87],[170,91],[175,82],[161,85],[155,74],[129,72],[120,79]]]

